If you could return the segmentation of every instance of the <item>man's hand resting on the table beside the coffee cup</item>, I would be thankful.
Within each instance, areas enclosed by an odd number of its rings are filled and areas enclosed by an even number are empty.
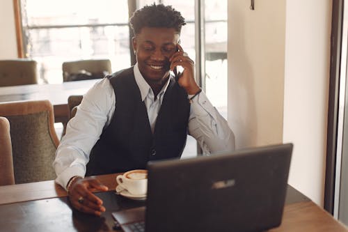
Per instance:
[[[103,201],[92,193],[94,190],[107,191],[108,187],[92,177],[75,178],[68,189],[70,203],[81,212],[100,216],[105,212]]]

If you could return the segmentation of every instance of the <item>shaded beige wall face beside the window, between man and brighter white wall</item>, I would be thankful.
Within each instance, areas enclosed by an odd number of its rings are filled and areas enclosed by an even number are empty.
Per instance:
[[[237,148],[283,141],[285,0],[228,1],[228,122]]]

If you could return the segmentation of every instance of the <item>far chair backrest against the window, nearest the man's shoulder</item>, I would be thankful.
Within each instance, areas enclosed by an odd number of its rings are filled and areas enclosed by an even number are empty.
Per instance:
[[[111,62],[109,59],[66,61],[62,69],[63,82],[98,79],[111,73]]]

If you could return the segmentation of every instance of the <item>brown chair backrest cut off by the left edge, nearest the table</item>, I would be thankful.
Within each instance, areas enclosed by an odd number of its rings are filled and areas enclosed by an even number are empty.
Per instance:
[[[15,176],[13,173],[10,123],[7,118],[0,117],[0,185],[13,184],[15,184]]]

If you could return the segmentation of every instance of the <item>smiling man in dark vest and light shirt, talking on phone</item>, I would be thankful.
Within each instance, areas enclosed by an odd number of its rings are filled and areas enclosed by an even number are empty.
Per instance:
[[[171,6],[151,5],[130,20],[136,65],[98,82],[68,123],[56,151],[56,182],[82,212],[100,215],[106,191],[95,178],[145,169],[149,160],[180,157],[191,134],[205,154],[233,150],[235,138],[194,78],[179,44],[184,18]],[[180,65],[183,72],[177,74]]]

